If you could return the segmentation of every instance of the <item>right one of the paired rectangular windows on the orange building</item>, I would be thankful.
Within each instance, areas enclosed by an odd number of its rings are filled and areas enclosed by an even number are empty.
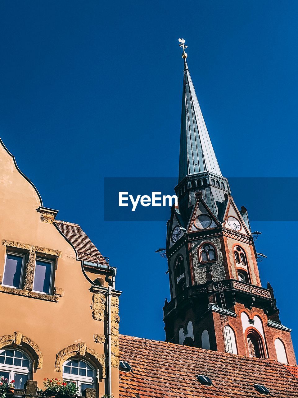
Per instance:
[[[33,291],[50,295],[52,293],[54,261],[37,258],[35,261]]]

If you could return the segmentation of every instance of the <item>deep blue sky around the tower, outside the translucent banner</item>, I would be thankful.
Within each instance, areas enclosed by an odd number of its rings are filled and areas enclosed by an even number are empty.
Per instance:
[[[0,136],[44,205],[118,267],[123,334],[164,339],[166,226],[104,222],[103,182],[177,176],[178,37],[223,174],[297,177],[297,13],[275,0],[1,2]],[[297,347],[297,222],[252,229]]]

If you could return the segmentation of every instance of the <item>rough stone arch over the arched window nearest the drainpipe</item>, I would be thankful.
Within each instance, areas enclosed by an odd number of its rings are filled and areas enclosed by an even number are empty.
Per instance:
[[[55,371],[62,373],[64,362],[75,356],[85,357],[86,359],[90,357],[96,364],[101,365],[102,378],[106,377],[104,355],[100,355],[94,349],[87,347],[84,341],[69,345],[56,354]]]

